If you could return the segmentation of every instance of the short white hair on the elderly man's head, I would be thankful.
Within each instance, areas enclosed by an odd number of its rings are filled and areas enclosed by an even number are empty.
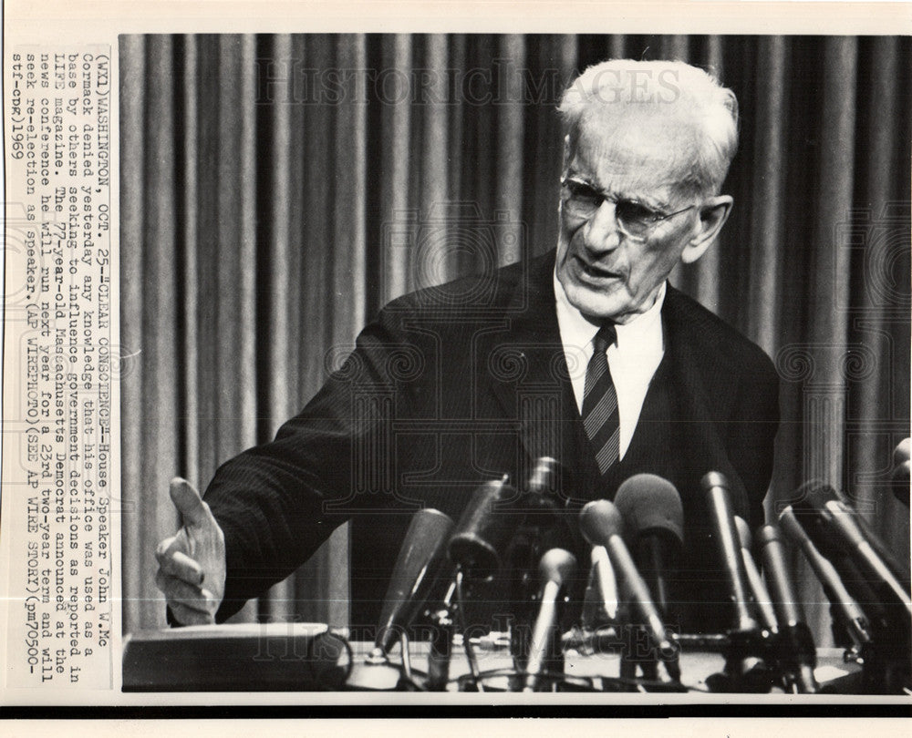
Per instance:
[[[738,149],[738,100],[731,89],[680,61],[609,59],[588,67],[567,87],[559,107],[571,150],[584,118],[630,106],[668,113],[669,125],[692,126],[693,171],[681,186],[703,196],[719,192]]]

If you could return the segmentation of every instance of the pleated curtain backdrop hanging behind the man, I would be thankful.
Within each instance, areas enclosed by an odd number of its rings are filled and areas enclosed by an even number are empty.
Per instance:
[[[909,433],[909,46],[121,36],[125,630],[164,622],[153,552],[177,525],[171,477],[205,487],[271,438],[384,302],[554,246],[555,106],[608,56],[712,67],[741,102],[731,220],[673,281],[779,368],[768,513],[821,477],[908,561],[908,511],[886,480]],[[495,255],[466,235],[479,232]],[[794,570],[826,643],[823,594],[798,557]],[[346,602],[342,529],[238,617],[343,624]]]

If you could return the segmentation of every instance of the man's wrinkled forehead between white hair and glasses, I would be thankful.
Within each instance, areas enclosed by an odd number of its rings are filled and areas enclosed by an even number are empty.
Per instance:
[[[568,163],[590,176],[650,172],[664,183],[687,187],[699,157],[699,127],[673,105],[594,104],[570,131]]]

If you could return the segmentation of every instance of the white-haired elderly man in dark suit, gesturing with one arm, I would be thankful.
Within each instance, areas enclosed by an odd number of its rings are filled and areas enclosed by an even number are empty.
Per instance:
[[[699,480],[729,477],[753,525],[772,474],[778,380],[747,339],[670,287],[731,211],[720,194],[737,101],[682,63],[614,60],[575,80],[556,251],[391,302],[275,441],[222,466],[162,541],[158,583],[183,623],[223,620],[352,523],[352,612],[377,621],[418,507],[537,456],[567,470],[568,519],[650,472],[679,490],[684,627],[724,627]]]

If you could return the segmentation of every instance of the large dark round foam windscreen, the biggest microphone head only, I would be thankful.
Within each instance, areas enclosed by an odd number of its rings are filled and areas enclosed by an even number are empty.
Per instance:
[[[654,474],[637,474],[617,489],[615,505],[629,534],[663,530],[684,540],[684,507],[675,486]]]

